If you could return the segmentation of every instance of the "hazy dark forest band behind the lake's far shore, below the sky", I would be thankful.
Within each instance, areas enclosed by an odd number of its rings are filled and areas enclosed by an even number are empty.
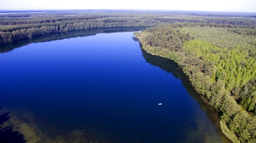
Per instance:
[[[198,15],[193,15],[193,14]],[[200,23],[211,27],[255,28],[251,15],[230,15],[217,18],[209,12],[71,10],[38,11],[5,14],[0,18],[0,44],[31,38],[41,34],[74,29],[156,26],[167,23]],[[203,15],[203,16],[201,16]],[[205,16],[211,15],[211,16]],[[220,14],[221,15],[221,14]]]

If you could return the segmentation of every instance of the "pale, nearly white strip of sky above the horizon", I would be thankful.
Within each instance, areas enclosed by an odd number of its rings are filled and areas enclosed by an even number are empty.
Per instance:
[[[256,12],[256,0],[0,0],[0,10],[136,9]]]

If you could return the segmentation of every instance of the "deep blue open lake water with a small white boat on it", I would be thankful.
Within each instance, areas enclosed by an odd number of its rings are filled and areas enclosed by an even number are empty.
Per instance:
[[[223,142],[210,113],[145,60],[132,32],[30,44],[0,61],[0,105],[29,112],[42,142]]]

